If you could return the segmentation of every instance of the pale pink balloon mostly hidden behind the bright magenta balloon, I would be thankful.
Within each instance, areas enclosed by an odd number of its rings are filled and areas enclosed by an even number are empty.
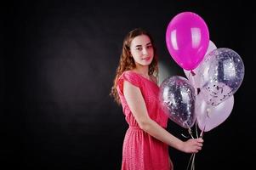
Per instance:
[[[205,55],[209,54],[216,48],[217,48],[216,45],[210,40],[208,45],[208,50]],[[192,72],[183,69],[183,71],[185,72],[185,76],[189,79],[189,81],[192,83],[194,88],[202,88],[201,79],[198,74],[198,68],[200,67],[200,65],[202,65],[202,61]]]

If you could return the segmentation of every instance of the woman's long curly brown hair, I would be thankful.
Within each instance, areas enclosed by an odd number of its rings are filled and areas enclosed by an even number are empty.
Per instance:
[[[136,67],[134,58],[131,57],[131,52],[130,52],[130,45],[131,42],[133,41],[134,37],[138,37],[140,35],[146,35],[150,38],[152,47],[154,49],[154,57],[151,62],[151,65],[149,65],[149,76],[154,76],[158,77],[158,67],[157,67],[157,55],[156,55],[156,46],[155,43],[147,31],[141,29],[141,28],[136,28],[132,31],[128,32],[128,35],[124,38],[123,43],[122,43],[122,54],[120,55],[120,60],[119,60],[119,65],[117,67],[117,72],[116,72],[116,77],[114,78],[113,81],[113,86],[111,88],[111,96],[114,98],[114,100],[117,102],[118,105],[121,104],[119,95],[117,93],[117,80],[118,78],[122,75],[122,72],[124,71],[129,71],[132,70]]]

